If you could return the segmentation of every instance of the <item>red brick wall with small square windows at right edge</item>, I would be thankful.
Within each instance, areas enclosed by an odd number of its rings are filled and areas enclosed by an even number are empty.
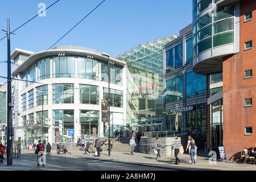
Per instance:
[[[240,8],[240,52],[223,62],[223,137],[230,160],[240,159],[242,148],[256,143],[256,1],[243,0]],[[244,22],[250,11],[253,19]],[[250,40],[253,48],[244,51]],[[244,79],[248,69],[253,69],[253,77]],[[253,106],[244,107],[245,98],[253,98]],[[247,126],[253,127],[253,135],[245,135]]]

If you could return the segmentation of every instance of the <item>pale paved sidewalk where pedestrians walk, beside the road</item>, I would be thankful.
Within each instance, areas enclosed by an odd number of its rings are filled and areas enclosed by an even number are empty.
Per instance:
[[[154,166],[160,168],[170,168],[170,169],[179,169],[179,170],[224,170],[224,171],[256,171],[256,165],[246,163],[242,164],[241,162],[225,162],[217,161],[216,164],[209,164],[209,156],[197,156],[196,164],[189,164],[190,156],[188,154],[179,155],[181,159],[180,165],[176,165],[174,156],[163,156],[162,160],[156,160],[156,155],[148,155],[142,153],[130,154],[130,151],[127,152],[115,152],[111,151],[111,156],[108,156],[108,151],[102,147],[104,151],[101,152],[101,156],[98,157],[93,151],[92,154],[84,155],[84,151],[72,151],[70,154],[56,154],[56,151],[52,151],[49,155],[58,156],[60,158],[71,157],[72,158],[86,158],[93,160],[104,160],[117,163],[127,163],[127,164],[138,164],[141,166]],[[22,150],[22,153],[34,153],[34,151]],[[143,170],[143,169],[142,169]]]

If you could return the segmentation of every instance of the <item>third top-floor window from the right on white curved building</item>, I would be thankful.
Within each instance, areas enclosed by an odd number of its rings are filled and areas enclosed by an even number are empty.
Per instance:
[[[53,78],[75,77],[75,57],[53,57]]]

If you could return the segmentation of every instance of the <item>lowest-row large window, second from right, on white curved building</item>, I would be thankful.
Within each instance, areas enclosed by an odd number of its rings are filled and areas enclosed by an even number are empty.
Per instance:
[[[85,135],[85,138],[98,137],[99,120],[99,111],[80,110],[81,135]],[[94,134],[93,128],[96,129]]]

